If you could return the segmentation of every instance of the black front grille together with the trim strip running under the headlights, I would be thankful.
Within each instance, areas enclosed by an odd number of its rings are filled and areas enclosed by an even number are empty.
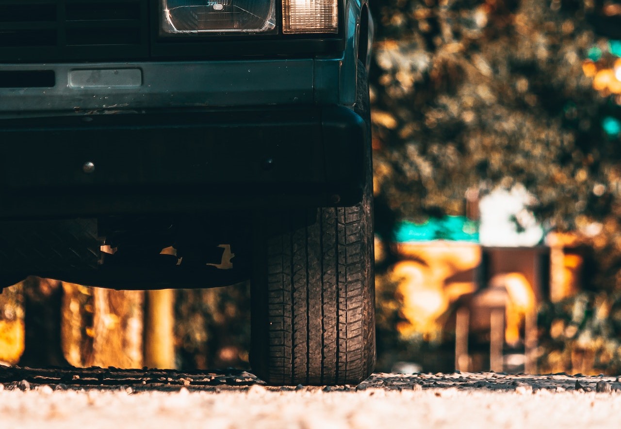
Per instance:
[[[157,0],[0,0],[0,63],[317,55],[343,34],[162,35]]]

